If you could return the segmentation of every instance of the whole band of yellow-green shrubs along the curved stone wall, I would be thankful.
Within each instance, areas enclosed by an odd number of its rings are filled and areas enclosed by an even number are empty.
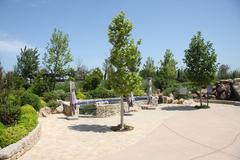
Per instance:
[[[37,112],[31,105],[22,106],[16,125],[5,127],[0,123],[0,146],[3,148],[22,139],[36,127],[37,120]]]

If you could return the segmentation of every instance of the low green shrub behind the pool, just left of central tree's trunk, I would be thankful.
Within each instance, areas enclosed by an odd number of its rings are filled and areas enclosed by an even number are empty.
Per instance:
[[[108,90],[104,87],[98,87],[95,90],[89,92],[92,98],[112,98],[115,94],[112,90]]]

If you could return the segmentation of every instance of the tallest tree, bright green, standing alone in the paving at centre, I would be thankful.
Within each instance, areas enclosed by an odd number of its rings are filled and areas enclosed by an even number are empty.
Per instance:
[[[141,61],[138,45],[141,41],[135,44],[131,36],[132,29],[133,24],[125,18],[124,12],[120,12],[108,28],[109,42],[113,46],[109,57],[109,80],[115,93],[121,96],[121,129],[124,129],[123,96],[141,85],[138,74]]]

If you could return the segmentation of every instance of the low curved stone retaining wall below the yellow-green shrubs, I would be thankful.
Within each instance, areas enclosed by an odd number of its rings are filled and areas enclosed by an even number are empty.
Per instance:
[[[14,144],[0,150],[0,160],[16,160],[38,142],[41,135],[41,124],[33,129],[27,136]]]

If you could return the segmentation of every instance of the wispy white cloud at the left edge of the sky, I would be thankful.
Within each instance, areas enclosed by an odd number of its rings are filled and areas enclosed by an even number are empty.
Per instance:
[[[0,39],[0,54],[19,53],[20,48],[24,48],[24,46],[34,48],[33,45],[28,44],[23,41],[10,40],[10,39],[1,40]]]

